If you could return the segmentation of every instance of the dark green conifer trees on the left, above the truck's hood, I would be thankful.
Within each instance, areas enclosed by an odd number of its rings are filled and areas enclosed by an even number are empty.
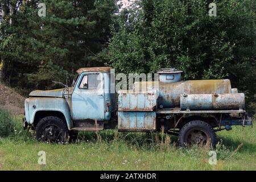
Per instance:
[[[11,86],[52,88],[67,73],[104,64],[97,54],[109,39],[114,0],[19,2],[1,24],[0,55]],[[39,2],[46,3],[45,17],[38,16]]]

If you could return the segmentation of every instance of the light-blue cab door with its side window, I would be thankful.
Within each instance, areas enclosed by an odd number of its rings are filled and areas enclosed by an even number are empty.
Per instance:
[[[104,76],[82,73],[72,93],[72,118],[75,121],[105,119]]]

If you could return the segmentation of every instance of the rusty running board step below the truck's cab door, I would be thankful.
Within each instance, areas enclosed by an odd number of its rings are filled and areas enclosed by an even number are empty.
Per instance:
[[[75,131],[100,131],[104,129],[103,121],[75,121],[72,130]]]

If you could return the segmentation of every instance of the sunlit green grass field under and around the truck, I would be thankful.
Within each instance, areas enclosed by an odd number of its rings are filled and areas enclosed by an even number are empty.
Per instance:
[[[0,138],[0,170],[256,170],[255,127],[217,133],[217,164],[210,165],[209,150],[182,150],[164,134],[105,130],[81,133],[71,144],[39,143],[23,131],[21,118],[14,118],[14,135]],[[46,152],[46,165],[38,164],[39,151]]]

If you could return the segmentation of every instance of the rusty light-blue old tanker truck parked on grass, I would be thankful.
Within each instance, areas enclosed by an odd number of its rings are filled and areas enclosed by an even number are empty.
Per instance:
[[[36,139],[49,143],[66,143],[78,131],[163,131],[188,147],[214,146],[216,131],[253,125],[245,95],[230,80],[184,81],[181,73],[161,69],[158,81],[134,82],[133,89],[119,90],[115,97],[109,67],[80,68],[72,86],[29,94],[23,127],[36,130]]]

